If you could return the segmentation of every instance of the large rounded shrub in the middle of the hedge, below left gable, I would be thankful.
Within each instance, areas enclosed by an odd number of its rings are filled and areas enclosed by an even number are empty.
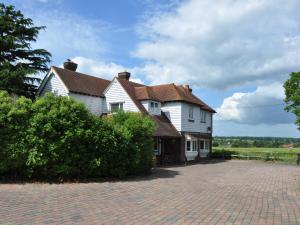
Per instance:
[[[86,176],[93,149],[93,116],[72,98],[46,94],[32,105],[24,148],[29,174],[38,177]]]

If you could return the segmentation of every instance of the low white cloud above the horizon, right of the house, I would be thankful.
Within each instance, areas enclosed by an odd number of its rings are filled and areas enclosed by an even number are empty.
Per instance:
[[[290,124],[292,114],[284,111],[284,89],[280,83],[258,86],[254,92],[234,93],[217,108],[217,120],[244,124]]]

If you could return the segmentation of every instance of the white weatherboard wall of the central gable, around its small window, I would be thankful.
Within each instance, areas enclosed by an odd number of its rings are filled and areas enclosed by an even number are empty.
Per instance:
[[[124,111],[140,111],[117,79],[114,79],[114,81],[108,87],[105,97],[108,110],[110,110],[111,103],[123,103]]]

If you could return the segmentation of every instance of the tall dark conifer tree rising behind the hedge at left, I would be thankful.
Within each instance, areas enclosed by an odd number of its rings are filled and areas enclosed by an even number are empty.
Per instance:
[[[42,29],[14,6],[0,3],[0,89],[34,97],[40,81],[34,75],[48,70],[51,57],[44,49],[31,48]]]

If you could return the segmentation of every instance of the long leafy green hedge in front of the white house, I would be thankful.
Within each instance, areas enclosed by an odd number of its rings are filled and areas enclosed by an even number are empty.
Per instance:
[[[0,175],[124,177],[152,167],[152,120],[118,112],[96,117],[72,98],[32,102],[0,92]]]

